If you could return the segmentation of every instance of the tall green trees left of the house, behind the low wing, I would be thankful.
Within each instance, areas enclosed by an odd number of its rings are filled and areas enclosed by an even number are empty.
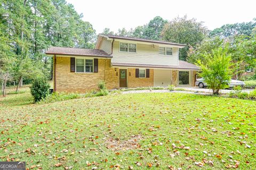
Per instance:
[[[44,52],[50,46],[94,48],[95,30],[82,18],[65,0],[1,0],[2,67],[12,56],[15,81],[39,72],[49,76],[52,60]]]

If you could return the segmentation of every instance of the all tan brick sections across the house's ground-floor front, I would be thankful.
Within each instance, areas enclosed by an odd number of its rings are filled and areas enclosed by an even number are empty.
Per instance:
[[[88,92],[98,90],[98,82],[106,82],[108,89],[119,88],[119,69],[111,67],[110,59],[98,60],[98,73],[70,72],[70,57],[56,57],[56,82],[55,91],[61,92]],[[192,72],[191,86],[195,86],[195,74]],[[149,78],[135,78],[135,69],[127,69],[127,87],[153,87],[154,69],[150,69]],[[171,84],[178,86],[178,70],[172,70]]]

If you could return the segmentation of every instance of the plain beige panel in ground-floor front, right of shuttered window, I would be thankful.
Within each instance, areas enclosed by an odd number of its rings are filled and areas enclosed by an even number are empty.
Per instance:
[[[171,70],[154,70],[154,86],[168,86],[171,84],[172,73]]]

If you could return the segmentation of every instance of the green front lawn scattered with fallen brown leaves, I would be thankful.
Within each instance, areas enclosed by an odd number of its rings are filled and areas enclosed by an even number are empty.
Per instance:
[[[1,161],[34,169],[256,167],[256,101],[177,93],[32,101],[27,92],[0,98]]]

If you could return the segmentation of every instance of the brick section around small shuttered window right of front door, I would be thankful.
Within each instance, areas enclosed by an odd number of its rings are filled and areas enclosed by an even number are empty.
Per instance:
[[[128,88],[154,86],[154,69],[149,70],[149,78],[135,78],[135,69],[127,69]]]

